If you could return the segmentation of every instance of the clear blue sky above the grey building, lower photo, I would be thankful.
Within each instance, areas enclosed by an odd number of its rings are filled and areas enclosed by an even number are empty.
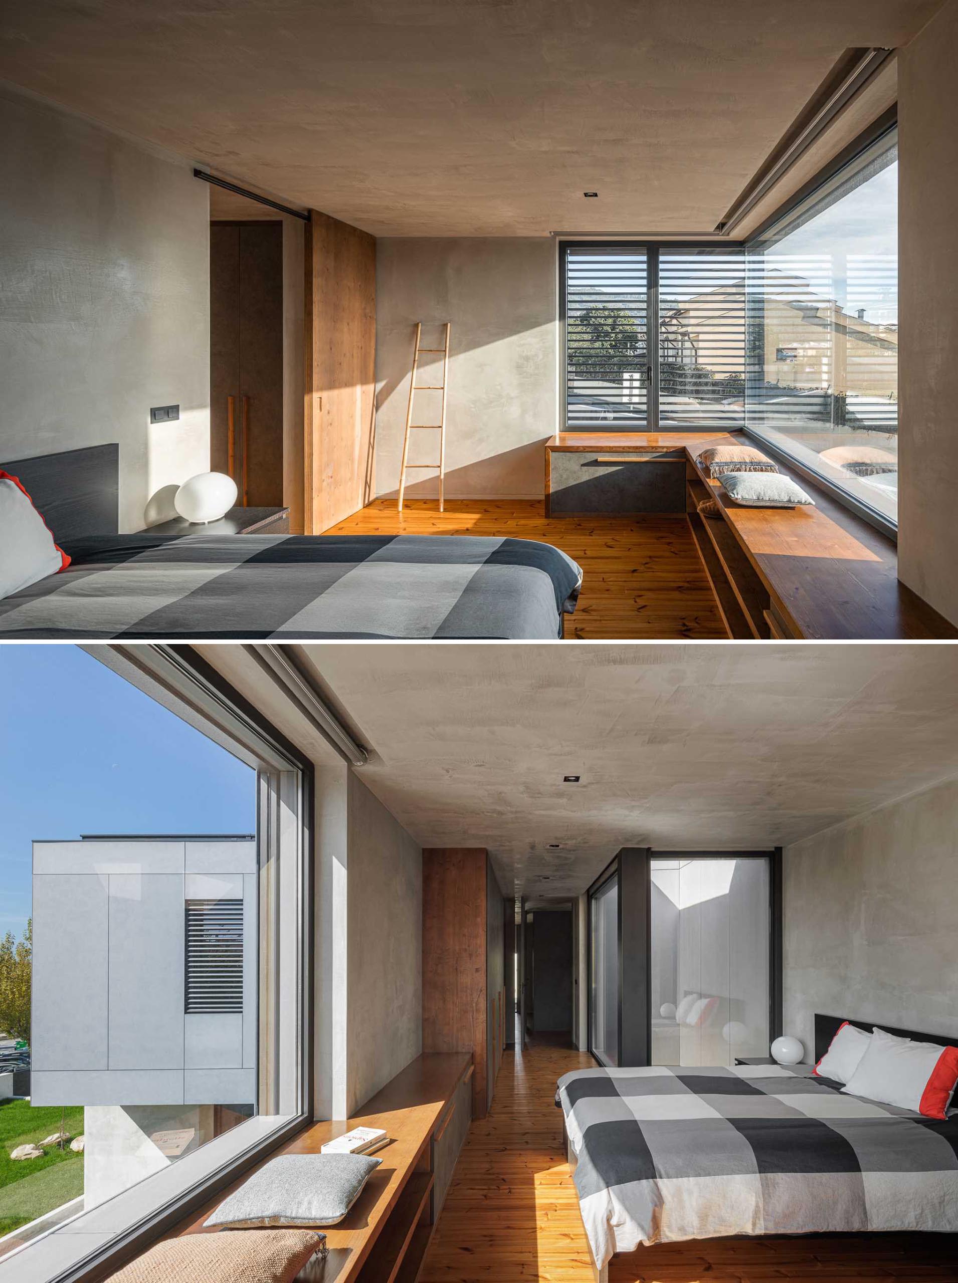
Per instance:
[[[35,838],[254,829],[244,762],[77,647],[0,647],[0,937],[30,917]]]

